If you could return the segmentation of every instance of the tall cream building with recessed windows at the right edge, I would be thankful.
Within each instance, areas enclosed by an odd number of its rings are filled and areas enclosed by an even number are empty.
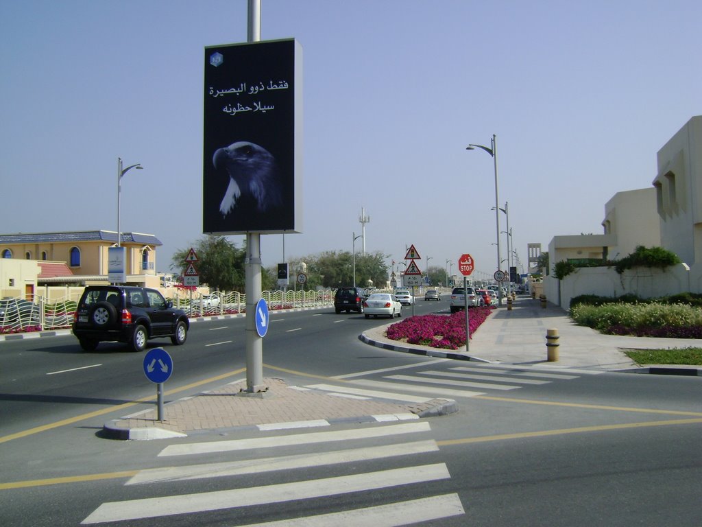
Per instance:
[[[656,209],[661,246],[688,265],[702,262],[702,116],[658,150]]]

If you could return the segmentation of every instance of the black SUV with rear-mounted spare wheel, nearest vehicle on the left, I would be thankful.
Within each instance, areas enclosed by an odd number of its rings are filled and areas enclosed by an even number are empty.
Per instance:
[[[86,287],[73,322],[81,348],[93,351],[100,341],[120,341],[143,351],[148,339],[171,337],[180,346],[190,329],[185,311],[173,308],[156,289],[122,285]]]

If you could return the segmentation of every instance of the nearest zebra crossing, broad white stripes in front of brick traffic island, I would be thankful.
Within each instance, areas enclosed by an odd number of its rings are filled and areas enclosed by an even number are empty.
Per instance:
[[[282,520],[274,518],[274,524],[281,527],[329,526],[332,522],[341,525],[391,527],[463,515],[465,511],[457,493],[442,493],[439,490],[432,493],[432,483],[449,480],[451,475],[446,464],[437,460],[439,446],[427,437],[430,431],[428,422],[403,422],[304,434],[168,445],[161,450],[159,458],[200,460],[201,457],[213,454],[219,461],[139,471],[126,481],[125,486],[145,488],[146,493],[153,494],[152,497],[104,502],[81,524],[130,522],[176,514],[227,511],[230,516],[226,524],[237,526],[242,525],[237,523],[237,518],[251,518],[251,507],[255,508],[253,514],[263,516],[263,521],[268,521],[267,511],[276,504],[282,504],[286,516],[289,516]],[[338,446],[345,448],[337,448]],[[253,451],[256,455],[274,453],[279,448],[284,448],[284,453],[253,459],[243,455],[246,451]],[[325,448],[329,450],[324,450]],[[289,450],[293,450],[293,453],[289,453]],[[232,459],[222,461],[222,457]],[[363,465],[364,462],[369,464]],[[383,466],[390,463],[392,467],[380,469],[380,462]],[[368,468],[361,471],[362,467]],[[300,481],[298,474],[307,474],[310,469],[319,469],[320,477]],[[273,484],[251,486],[250,476],[260,478],[262,474],[277,474],[277,477],[286,477],[291,481],[276,479],[277,482]],[[164,495],[173,483],[197,483],[201,480],[207,481],[207,487],[213,486],[213,481],[219,481],[220,487],[224,488],[218,487],[220,490],[209,492]],[[410,496],[411,493],[405,490],[408,486],[417,484],[421,485],[422,495]],[[202,486],[198,484],[198,488]],[[376,492],[383,490],[386,491],[387,502],[377,505],[380,500]],[[361,494],[368,491],[376,492],[372,494],[373,497]],[[416,492],[416,488],[413,492]],[[307,500],[357,493],[361,497],[353,498],[354,507],[350,510],[304,515],[308,509],[313,508]],[[397,500],[398,496],[403,495],[407,499]],[[357,506],[357,502],[362,505],[363,500],[372,501],[372,506]],[[192,524],[197,524],[197,518]]]

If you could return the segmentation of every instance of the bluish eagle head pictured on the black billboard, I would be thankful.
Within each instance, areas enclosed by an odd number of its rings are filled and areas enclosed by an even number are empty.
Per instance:
[[[275,157],[256,143],[237,141],[219,148],[213,155],[215,169],[225,169],[229,186],[220,203],[220,212],[227,216],[234,207],[245,203],[258,212],[267,212],[282,204],[281,182]]]

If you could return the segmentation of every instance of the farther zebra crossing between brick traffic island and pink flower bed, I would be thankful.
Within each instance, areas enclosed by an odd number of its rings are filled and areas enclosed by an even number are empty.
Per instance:
[[[441,361],[438,361],[441,362]],[[451,361],[455,363],[455,361]],[[435,365],[436,363],[430,363]],[[413,365],[416,369],[426,364]],[[398,370],[407,370],[404,365]],[[470,398],[482,396],[490,391],[506,393],[524,386],[543,386],[552,382],[578,379],[584,375],[600,375],[602,370],[586,370],[550,365],[517,366],[507,364],[477,364],[448,367],[446,370],[418,370],[412,375],[395,374],[393,368],[382,370],[382,380],[368,377],[375,372],[340,375],[335,379],[344,381],[334,384],[308,384],[307,389],[317,389],[338,395],[353,394],[368,398],[387,398],[393,401],[425,403],[433,398]],[[418,395],[424,394],[424,395]]]

